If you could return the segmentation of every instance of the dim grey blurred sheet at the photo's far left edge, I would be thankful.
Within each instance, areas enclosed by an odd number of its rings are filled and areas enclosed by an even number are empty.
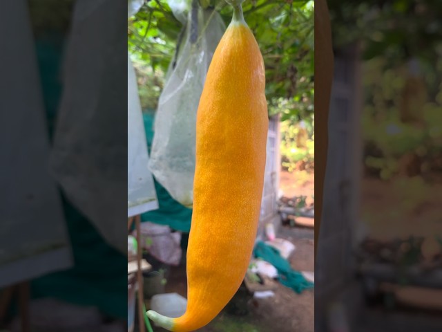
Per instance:
[[[0,1],[0,288],[73,266],[27,6]]]

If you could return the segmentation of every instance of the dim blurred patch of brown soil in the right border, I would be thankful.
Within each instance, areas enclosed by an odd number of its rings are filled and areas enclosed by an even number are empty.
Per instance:
[[[442,179],[403,187],[398,181],[363,179],[359,225],[365,225],[370,237],[384,241],[442,234]]]

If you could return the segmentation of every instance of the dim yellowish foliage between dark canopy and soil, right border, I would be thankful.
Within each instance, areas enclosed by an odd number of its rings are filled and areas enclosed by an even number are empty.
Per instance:
[[[425,68],[416,80],[406,64],[388,70],[384,65],[385,59],[376,57],[363,66],[361,122],[368,172],[390,180],[442,170],[441,93],[429,93],[434,82],[428,80]],[[440,74],[441,65],[439,60],[434,68]],[[437,85],[440,89],[441,83]]]

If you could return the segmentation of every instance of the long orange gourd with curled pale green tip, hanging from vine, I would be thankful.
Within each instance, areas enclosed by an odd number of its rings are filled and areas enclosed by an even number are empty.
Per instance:
[[[268,131],[265,70],[243,19],[215,50],[197,113],[194,202],[182,317],[148,316],[170,331],[195,331],[240,287],[256,238]]]

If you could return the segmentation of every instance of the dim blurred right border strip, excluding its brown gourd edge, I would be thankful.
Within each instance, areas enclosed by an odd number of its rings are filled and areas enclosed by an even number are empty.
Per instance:
[[[441,331],[440,1],[328,1],[316,331]]]

